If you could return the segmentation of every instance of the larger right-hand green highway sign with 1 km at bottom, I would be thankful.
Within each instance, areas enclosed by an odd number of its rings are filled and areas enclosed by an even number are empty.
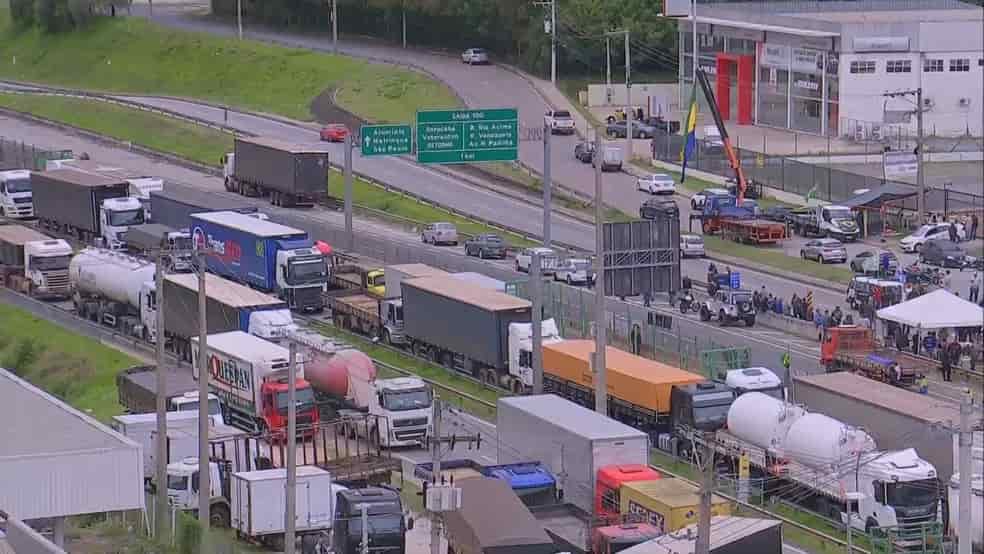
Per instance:
[[[431,164],[515,161],[515,108],[417,112],[417,161]]]

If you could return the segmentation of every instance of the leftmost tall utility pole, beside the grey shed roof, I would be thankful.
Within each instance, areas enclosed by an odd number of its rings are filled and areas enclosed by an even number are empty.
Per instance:
[[[164,377],[164,256],[165,249],[157,252],[157,269],[154,272],[154,296],[157,312],[154,314],[154,358],[157,364],[157,459],[167,459],[167,379]],[[157,483],[154,498],[154,535],[163,540],[167,535],[167,464],[158,463],[154,480]]]

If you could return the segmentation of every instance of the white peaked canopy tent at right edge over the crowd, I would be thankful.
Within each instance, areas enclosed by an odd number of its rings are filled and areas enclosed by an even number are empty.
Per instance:
[[[919,298],[878,310],[878,318],[922,329],[979,327],[984,308],[959,296],[937,289]]]

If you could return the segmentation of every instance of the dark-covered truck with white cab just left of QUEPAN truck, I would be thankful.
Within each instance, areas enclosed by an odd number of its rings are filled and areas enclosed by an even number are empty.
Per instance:
[[[198,413],[198,382],[184,368],[164,369],[164,409],[168,412]],[[116,374],[116,390],[120,405],[128,413],[146,414],[157,410],[157,367],[139,365]],[[208,413],[212,425],[225,423],[222,403],[214,394],[208,395]]]

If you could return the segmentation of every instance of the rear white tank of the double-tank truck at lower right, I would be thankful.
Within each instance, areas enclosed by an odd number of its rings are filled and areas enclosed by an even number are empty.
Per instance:
[[[728,432],[782,457],[789,428],[804,415],[806,410],[799,406],[760,392],[746,392],[728,410]]]

